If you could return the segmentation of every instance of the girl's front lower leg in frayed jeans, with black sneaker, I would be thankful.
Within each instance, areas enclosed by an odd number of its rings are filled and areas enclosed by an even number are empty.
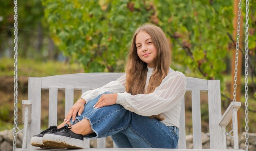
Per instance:
[[[114,135],[126,129],[130,119],[131,112],[119,104],[99,109],[92,108],[76,117],[71,127],[64,126],[54,133],[45,134],[43,143],[52,145],[52,147],[65,145],[66,148],[81,148],[81,143],[78,142],[83,141],[84,135],[89,139]]]

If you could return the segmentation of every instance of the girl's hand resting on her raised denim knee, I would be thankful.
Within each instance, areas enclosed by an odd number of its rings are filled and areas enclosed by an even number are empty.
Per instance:
[[[117,103],[117,94],[103,94],[93,107],[95,107],[94,109],[98,109],[103,106],[109,106],[116,103]]]

